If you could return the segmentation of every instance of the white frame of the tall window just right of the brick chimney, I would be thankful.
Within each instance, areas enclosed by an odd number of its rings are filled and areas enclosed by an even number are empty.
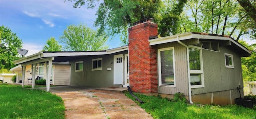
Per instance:
[[[161,51],[165,50],[172,50],[172,60],[173,60],[173,79],[174,79],[174,85],[170,84],[162,84],[162,72],[161,72]],[[162,87],[176,87],[176,77],[175,77],[175,57],[174,57],[174,47],[169,48],[161,48],[158,49],[158,80],[159,80],[159,86]]]

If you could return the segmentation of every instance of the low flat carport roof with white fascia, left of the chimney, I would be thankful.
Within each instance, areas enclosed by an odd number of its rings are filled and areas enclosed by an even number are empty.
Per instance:
[[[31,56],[27,56],[21,59],[14,61],[15,64],[23,64],[28,61],[34,61],[35,59],[42,59],[41,62],[45,61],[44,58],[52,58],[54,59],[53,62],[63,62],[63,61],[71,61],[74,58],[85,58],[86,56],[94,56],[94,55],[106,55],[106,54],[113,54],[116,52],[121,52],[128,50],[128,46],[122,46],[118,48],[113,48],[109,50],[102,50],[102,51],[79,51],[79,52],[38,52]],[[38,61],[37,61],[38,62]],[[40,62],[40,61],[39,61]],[[23,64],[27,65],[27,64]]]

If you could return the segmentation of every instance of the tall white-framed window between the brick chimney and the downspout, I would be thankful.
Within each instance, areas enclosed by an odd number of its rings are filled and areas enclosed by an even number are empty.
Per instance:
[[[159,86],[175,86],[174,47],[158,50]]]

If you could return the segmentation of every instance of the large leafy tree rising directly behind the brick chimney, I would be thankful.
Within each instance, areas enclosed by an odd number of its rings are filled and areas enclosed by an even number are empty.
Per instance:
[[[153,18],[158,24],[159,34],[169,36],[177,34],[176,24],[179,14],[183,11],[183,6],[187,0],[68,0],[75,1],[73,7],[81,7],[87,3],[88,8],[94,8],[95,2],[99,7],[96,15],[95,27],[99,27],[98,35],[109,34],[114,36],[121,34],[123,45],[128,44],[127,29],[132,23],[144,18]],[[170,4],[173,3],[173,4]],[[168,5],[166,5],[168,4]]]

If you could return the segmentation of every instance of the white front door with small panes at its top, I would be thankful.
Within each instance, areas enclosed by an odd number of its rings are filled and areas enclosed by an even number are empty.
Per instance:
[[[114,55],[114,84],[123,84],[123,54]]]

